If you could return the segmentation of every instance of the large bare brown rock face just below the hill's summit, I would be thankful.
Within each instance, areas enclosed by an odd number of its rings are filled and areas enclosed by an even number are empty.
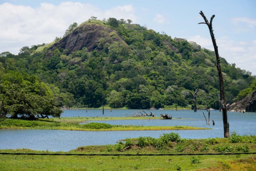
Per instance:
[[[124,46],[128,46],[115,30],[100,24],[86,23],[73,30],[66,37],[54,43],[47,50],[45,57],[51,57],[52,52],[56,48],[64,49],[66,54],[81,50],[83,47],[86,47],[90,52],[93,50],[101,49],[102,47],[99,47],[100,39],[101,44],[103,45],[105,43],[111,44],[117,41]]]

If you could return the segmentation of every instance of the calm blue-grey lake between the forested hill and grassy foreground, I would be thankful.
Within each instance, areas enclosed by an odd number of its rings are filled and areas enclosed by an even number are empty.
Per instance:
[[[131,116],[140,110],[65,110],[62,117],[115,117]],[[223,137],[222,113],[211,111],[211,125],[206,125],[203,111],[198,110],[151,110],[153,114],[167,113],[172,120],[145,119],[145,120],[103,120],[93,121],[113,125],[143,125],[143,126],[175,126],[187,125],[196,127],[212,128],[210,130],[169,130],[169,131],[64,131],[64,130],[0,130],[0,149],[29,148],[33,150],[69,151],[79,146],[115,144],[116,141],[125,138],[136,138],[139,136],[152,136],[158,138],[163,133],[179,133],[182,138],[215,138]],[[208,112],[204,111],[208,120]],[[214,120],[215,125],[212,125]],[[236,131],[240,135],[256,135],[256,114],[228,112],[230,133]]]

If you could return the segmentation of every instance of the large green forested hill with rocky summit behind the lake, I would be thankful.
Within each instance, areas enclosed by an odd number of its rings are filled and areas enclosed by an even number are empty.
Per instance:
[[[70,25],[50,44],[0,54],[1,88],[54,96],[76,107],[162,108],[192,105],[189,91],[201,89],[198,104],[219,108],[213,51],[171,38],[130,20],[88,20]],[[221,58],[227,103],[250,87],[254,76]],[[5,91],[6,92],[6,91]],[[1,94],[1,97],[5,94]]]

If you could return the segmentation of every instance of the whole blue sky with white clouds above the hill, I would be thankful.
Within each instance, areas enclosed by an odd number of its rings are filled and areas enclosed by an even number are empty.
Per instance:
[[[207,26],[198,24],[203,21],[202,10],[207,18],[215,14],[213,29],[220,56],[256,75],[255,9],[255,0],[0,0],[0,25],[4,25],[0,28],[0,53],[17,54],[23,46],[50,43],[70,24],[80,24],[90,16],[132,19],[148,29],[213,50]]]

